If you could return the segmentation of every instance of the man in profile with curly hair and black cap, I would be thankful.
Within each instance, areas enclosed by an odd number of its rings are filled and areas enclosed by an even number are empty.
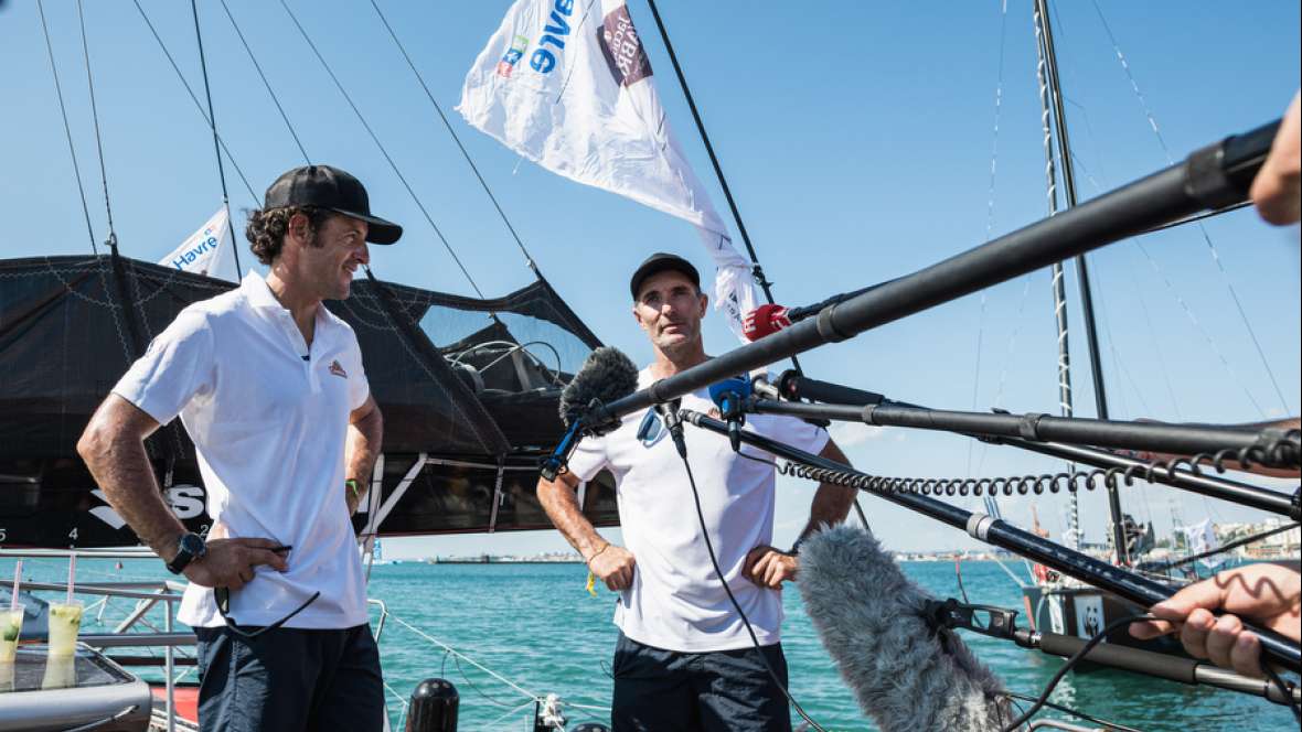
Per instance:
[[[191,304],[132,365],[78,443],[96,482],[173,573],[199,640],[202,729],[384,724],[379,653],[349,516],[380,451],[348,298],[366,243],[402,229],[336,168],[281,176],[246,235],[266,277]],[[164,503],[145,438],[180,416],[208,493],[207,540]]]

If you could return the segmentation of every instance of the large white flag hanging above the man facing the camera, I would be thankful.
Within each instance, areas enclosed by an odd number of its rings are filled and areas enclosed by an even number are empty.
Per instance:
[[[750,261],[669,130],[624,0],[517,0],[457,111],[553,173],[694,224],[717,268],[715,307],[742,338],[755,307]]]

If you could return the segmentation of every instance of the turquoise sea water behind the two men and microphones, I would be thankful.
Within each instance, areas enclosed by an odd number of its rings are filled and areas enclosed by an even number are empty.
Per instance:
[[[1014,566],[1014,569],[1019,567]],[[957,595],[949,563],[913,562],[905,571],[932,593]],[[992,562],[965,562],[963,584],[973,602],[1019,607],[1013,581]],[[0,560],[0,576],[12,576],[13,560]],[[62,581],[66,564],[27,560],[23,575]],[[115,579],[161,579],[156,562],[82,560],[82,582]],[[608,707],[608,675],[616,629],[611,624],[613,595],[604,589],[592,598],[583,588],[581,564],[391,564],[375,567],[371,597],[384,601],[391,618],[380,636],[385,683],[392,688],[389,712],[401,729],[402,703],[426,677],[445,677],[461,694],[461,729],[530,729],[533,707],[512,712],[527,702],[523,692],[493,679],[465,659],[447,654],[409,624],[474,662],[535,694],[555,693],[562,699]],[[799,593],[784,593],[786,624],[783,645],[790,667],[790,692],[827,729],[874,729],[859,712],[823,650]],[[112,625],[132,608],[112,601],[87,612],[91,627]],[[155,623],[160,615],[151,616]],[[379,612],[372,611],[372,620]],[[978,657],[991,666],[1010,690],[1039,694],[1060,662],[980,636],[965,634]],[[1120,724],[1147,731],[1297,729],[1282,707],[1254,697],[1206,688],[1184,686],[1121,672],[1069,675],[1052,701]],[[604,711],[570,707],[570,724],[605,719]],[[1060,712],[1046,716],[1065,719]],[[797,719],[798,722],[798,719]]]

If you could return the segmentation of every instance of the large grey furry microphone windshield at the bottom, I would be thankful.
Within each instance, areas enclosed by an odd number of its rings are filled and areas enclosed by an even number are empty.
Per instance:
[[[824,529],[801,542],[801,597],[823,646],[883,732],[1003,728],[1003,683],[953,631],[928,623],[932,599],[868,532]]]

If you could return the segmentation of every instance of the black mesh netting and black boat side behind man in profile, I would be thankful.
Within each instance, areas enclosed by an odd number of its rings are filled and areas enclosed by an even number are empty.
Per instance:
[[[233,286],[108,256],[0,261],[0,543],[135,542],[96,495],[77,438],[134,354],[181,308]],[[560,438],[560,386],[599,341],[546,281],[479,300],[359,278],[327,306],[357,333],[384,412],[380,534],[549,527],[527,468]],[[148,449],[176,514],[203,528],[180,421]],[[391,473],[421,454],[431,462],[393,499],[404,476]],[[615,523],[612,491],[587,490],[585,512]]]

